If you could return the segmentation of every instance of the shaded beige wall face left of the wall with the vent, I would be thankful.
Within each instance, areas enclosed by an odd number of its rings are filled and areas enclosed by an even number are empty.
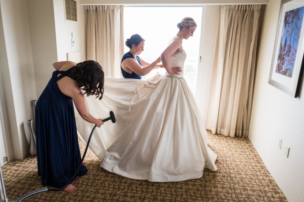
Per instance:
[[[27,0],[27,12],[38,99],[55,70],[52,64],[57,62],[53,0]]]

